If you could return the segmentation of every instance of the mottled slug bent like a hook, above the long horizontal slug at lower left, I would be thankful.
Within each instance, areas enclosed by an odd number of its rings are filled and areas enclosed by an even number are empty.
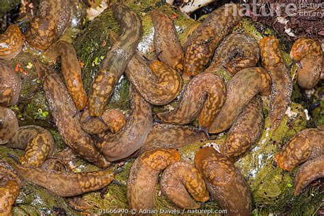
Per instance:
[[[6,146],[25,150],[19,162],[34,167],[40,167],[56,148],[51,133],[35,125],[21,126]]]

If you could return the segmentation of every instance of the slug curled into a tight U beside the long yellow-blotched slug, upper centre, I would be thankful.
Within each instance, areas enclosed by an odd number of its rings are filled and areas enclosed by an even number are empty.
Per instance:
[[[116,33],[111,31],[109,36],[111,43],[115,43]],[[183,83],[176,70],[158,60],[148,64],[138,52],[129,61],[125,74],[141,96],[152,105],[170,103],[180,93]]]

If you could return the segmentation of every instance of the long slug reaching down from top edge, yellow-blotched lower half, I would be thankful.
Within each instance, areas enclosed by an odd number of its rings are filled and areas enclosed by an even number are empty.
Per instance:
[[[103,59],[92,83],[88,104],[90,116],[101,116],[105,111],[107,101],[141,39],[141,21],[137,14],[118,3],[111,8],[122,33]]]

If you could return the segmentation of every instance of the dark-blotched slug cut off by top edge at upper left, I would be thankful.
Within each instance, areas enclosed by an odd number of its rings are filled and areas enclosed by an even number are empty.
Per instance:
[[[66,0],[42,0],[37,16],[26,33],[26,41],[36,49],[46,50],[62,36],[72,14],[72,3]]]

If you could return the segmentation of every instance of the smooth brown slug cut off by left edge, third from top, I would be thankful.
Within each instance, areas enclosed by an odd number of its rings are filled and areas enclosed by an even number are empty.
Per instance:
[[[0,145],[6,144],[18,130],[16,114],[7,107],[0,107]]]

